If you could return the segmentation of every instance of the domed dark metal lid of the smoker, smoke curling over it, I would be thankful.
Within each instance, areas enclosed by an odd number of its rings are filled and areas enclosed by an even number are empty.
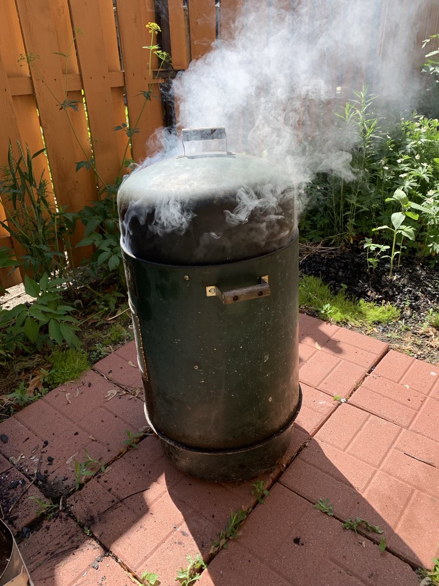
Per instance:
[[[218,130],[224,129],[200,135]],[[118,209],[124,250],[156,263],[253,258],[285,246],[295,231],[294,194],[283,169],[227,149],[133,172],[119,188]]]

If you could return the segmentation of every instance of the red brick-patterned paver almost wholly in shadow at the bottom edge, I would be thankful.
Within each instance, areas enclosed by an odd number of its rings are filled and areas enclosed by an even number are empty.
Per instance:
[[[267,580],[266,580],[267,578]],[[311,503],[276,485],[241,536],[212,561],[200,586],[416,586],[411,568]],[[263,582],[262,582],[263,583]]]

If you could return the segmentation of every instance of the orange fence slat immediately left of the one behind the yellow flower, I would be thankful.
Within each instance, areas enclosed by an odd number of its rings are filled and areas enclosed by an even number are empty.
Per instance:
[[[116,120],[113,110],[100,5],[96,0],[69,2],[74,28],[83,31],[76,36],[76,47],[84,84],[94,161],[100,178],[110,184],[114,182],[121,165],[117,135],[113,130],[120,121]],[[112,12],[111,0],[106,4]],[[116,36],[114,19],[113,29],[105,33]],[[97,59],[97,56],[100,56],[100,59]]]

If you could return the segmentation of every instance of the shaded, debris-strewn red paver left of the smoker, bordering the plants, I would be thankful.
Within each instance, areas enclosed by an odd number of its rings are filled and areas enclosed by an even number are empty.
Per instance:
[[[89,371],[1,423],[8,442],[0,442],[0,454],[18,458],[17,467],[28,476],[41,456],[46,486],[60,496],[74,486],[74,462],[85,461],[84,449],[108,462],[124,449],[125,430],[137,432],[145,424],[139,398]]]

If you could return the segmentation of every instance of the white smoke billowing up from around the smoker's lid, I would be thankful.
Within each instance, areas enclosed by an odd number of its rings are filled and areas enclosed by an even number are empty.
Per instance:
[[[217,40],[174,80],[177,129],[225,127],[229,151],[263,156],[282,166],[295,188],[290,197],[317,172],[354,179],[349,152],[355,133],[335,124],[334,111],[340,112],[363,83],[379,95],[373,107],[383,118],[390,110],[400,115],[416,105],[419,85],[410,67],[416,22],[426,2],[243,0],[242,16],[228,25],[228,39]],[[155,154],[139,168],[182,154],[180,138],[163,129],[153,135],[151,149]],[[260,227],[260,237],[266,238],[268,220],[282,213],[284,195],[282,190],[258,191],[255,195],[240,186],[236,208],[225,216],[231,226],[259,213],[267,219]],[[128,219],[142,214],[129,212]],[[183,233],[192,217],[179,202],[165,198],[150,230]],[[256,229],[254,233],[256,237]],[[205,234],[208,241],[219,237],[219,232]]]

